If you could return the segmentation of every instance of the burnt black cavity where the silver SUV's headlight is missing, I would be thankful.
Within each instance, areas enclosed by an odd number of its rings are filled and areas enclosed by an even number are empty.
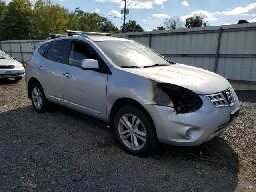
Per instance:
[[[203,104],[196,93],[174,84],[155,83],[154,93],[154,102],[174,107],[177,114],[198,110]]]

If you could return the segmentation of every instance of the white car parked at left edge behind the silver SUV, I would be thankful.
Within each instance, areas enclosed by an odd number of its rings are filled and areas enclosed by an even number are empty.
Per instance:
[[[20,81],[25,75],[23,65],[5,52],[0,50],[0,78],[14,78]]]

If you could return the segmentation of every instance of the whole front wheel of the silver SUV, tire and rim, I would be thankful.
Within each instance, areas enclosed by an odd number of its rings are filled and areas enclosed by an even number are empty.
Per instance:
[[[150,116],[140,107],[128,105],[114,118],[114,132],[126,152],[146,156],[158,146],[156,129]]]

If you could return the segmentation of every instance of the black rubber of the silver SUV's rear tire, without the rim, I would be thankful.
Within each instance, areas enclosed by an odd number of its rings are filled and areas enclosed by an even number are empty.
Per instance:
[[[40,107],[37,107],[35,105],[34,101],[33,101],[33,90],[34,90],[34,88],[38,88],[40,90],[40,93],[41,93],[42,105]],[[48,101],[45,97],[44,90],[43,90],[42,86],[38,82],[35,82],[35,83],[32,84],[32,86],[30,88],[30,98],[31,98],[31,102],[32,102],[32,105],[33,105],[34,109],[38,113],[46,112]]]

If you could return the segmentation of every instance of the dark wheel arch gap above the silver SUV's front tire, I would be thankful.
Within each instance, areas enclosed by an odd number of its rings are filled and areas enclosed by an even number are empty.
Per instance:
[[[119,98],[118,100],[116,100],[114,102],[114,104],[112,105],[110,114],[108,116],[108,124],[109,124],[110,128],[113,128],[114,117],[116,116],[116,113],[118,112],[118,110],[120,110],[122,107],[127,106],[127,105],[135,105],[138,108],[142,109],[150,117],[150,119],[152,120],[152,123],[154,124],[152,117],[150,116],[148,111],[142,106],[142,104],[140,104],[138,101],[136,101],[132,98],[123,97],[123,98]]]

